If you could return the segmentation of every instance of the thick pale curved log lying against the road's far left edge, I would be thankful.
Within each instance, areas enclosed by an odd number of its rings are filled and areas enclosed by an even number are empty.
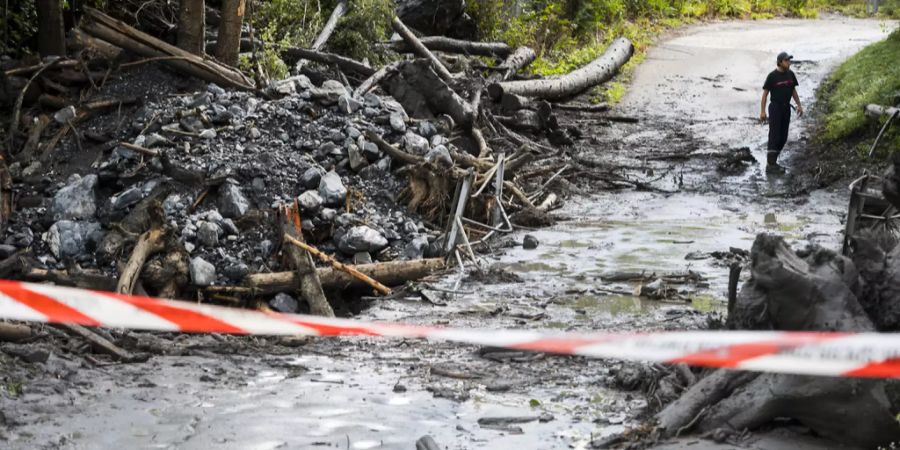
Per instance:
[[[495,100],[506,93],[550,100],[571,97],[612,78],[633,53],[631,41],[618,38],[597,59],[566,75],[543,80],[492,83],[488,86],[488,93]]]

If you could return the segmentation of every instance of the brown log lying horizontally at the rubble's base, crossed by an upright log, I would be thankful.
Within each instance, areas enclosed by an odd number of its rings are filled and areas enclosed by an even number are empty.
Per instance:
[[[407,281],[417,280],[443,269],[443,258],[419,259],[415,261],[391,261],[362,264],[356,269],[366,276],[386,286],[399,286]],[[358,279],[331,267],[316,269],[323,287],[329,289],[360,288],[367,285]],[[255,289],[261,295],[275,294],[291,290],[297,286],[295,272],[273,272],[248,275],[244,285]]]

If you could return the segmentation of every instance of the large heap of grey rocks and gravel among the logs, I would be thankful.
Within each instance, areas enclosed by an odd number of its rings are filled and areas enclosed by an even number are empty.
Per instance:
[[[117,127],[100,116],[87,126],[108,138],[89,166],[75,163],[88,155],[69,141],[61,154],[71,159],[57,161],[39,183],[13,164],[17,192],[40,201],[18,208],[6,245],[30,246],[38,266],[77,263],[117,276],[117,261],[95,250],[105,233],[160,192],[164,224],[190,255],[194,286],[286,267],[274,254],[280,236],[273,210],[282,204],[296,202],[307,241],[344,261],[422,258],[438,238],[397,204],[405,183],[364,134],[374,131],[437,160],[449,161],[450,144],[392,99],[354,99],[339,82],[315,86],[304,76],[273,84],[269,98],[214,84],[167,96],[154,95],[152,83],[141,87],[148,101],[127,112],[130,124]],[[74,169],[63,178],[65,168]]]

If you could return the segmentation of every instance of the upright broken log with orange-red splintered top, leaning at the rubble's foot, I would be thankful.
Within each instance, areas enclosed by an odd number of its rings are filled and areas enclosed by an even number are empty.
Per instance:
[[[295,204],[292,208],[283,208],[281,215],[281,234],[290,236],[300,242],[303,242],[303,234],[300,232],[300,207]],[[309,304],[310,314],[323,317],[334,317],[334,310],[325,298],[325,292],[322,291],[322,283],[316,272],[316,265],[313,263],[312,256],[293,245],[287,246],[285,254],[294,265],[294,274],[296,275],[296,283],[293,288],[299,287],[300,295]]]

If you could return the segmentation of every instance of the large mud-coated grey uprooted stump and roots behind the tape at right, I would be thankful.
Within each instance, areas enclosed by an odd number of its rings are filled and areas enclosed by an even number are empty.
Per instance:
[[[736,329],[897,331],[886,303],[900,286],[900,246],[857,237],[851,258],[820,248],[795,253],[777,236],[753,244],[752,278],[729,308]],[[895,303],[890,297],[891,303]],[[874,314],[873,314],[874,313]],[[893,388],[893,389],[892,389]],[[885,380],[716,370],[658,415],[664,436],[741,433],[777,418],[821,436],[874,448],[900,439],[896,384]]]

